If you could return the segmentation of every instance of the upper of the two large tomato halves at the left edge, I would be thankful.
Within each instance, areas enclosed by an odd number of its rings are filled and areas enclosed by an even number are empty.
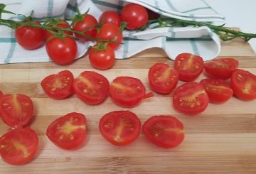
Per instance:
[[[0,116],[8,126],[26,126],[33,117],[33,102],[24,94],[5,94],[0,98]]]

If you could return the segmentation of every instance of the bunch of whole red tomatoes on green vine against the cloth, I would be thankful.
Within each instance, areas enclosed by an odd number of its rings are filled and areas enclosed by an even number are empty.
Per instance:
[[[98,21],[88,11],[83,14],[78,11],[72,23],[50,18],[41,25],[32,18],[26,18],[18,24],[15,38],[27,50],[46,43],[49,58],[58,65],[68,65],[75,60],[78,54],[75,40],[95,41],[89,50],[90,63],[97,69],[106,70],[114,65],[114,50],[122,44],[124,26],[128,30],[136,30],[145,26],[148,20],[148,11],[143,6],[128,4],[121,13],[105,11]]]

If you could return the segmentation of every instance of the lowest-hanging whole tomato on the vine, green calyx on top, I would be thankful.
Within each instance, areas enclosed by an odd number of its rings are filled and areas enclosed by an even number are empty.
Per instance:
[[[95,67],[99,70],[107,70],[114,65],[114,50],[109,45],[102,45],[103,48],[100,48],[101,46],[98,46],[99,44],[90,48],[89,60],[92,67]]]

